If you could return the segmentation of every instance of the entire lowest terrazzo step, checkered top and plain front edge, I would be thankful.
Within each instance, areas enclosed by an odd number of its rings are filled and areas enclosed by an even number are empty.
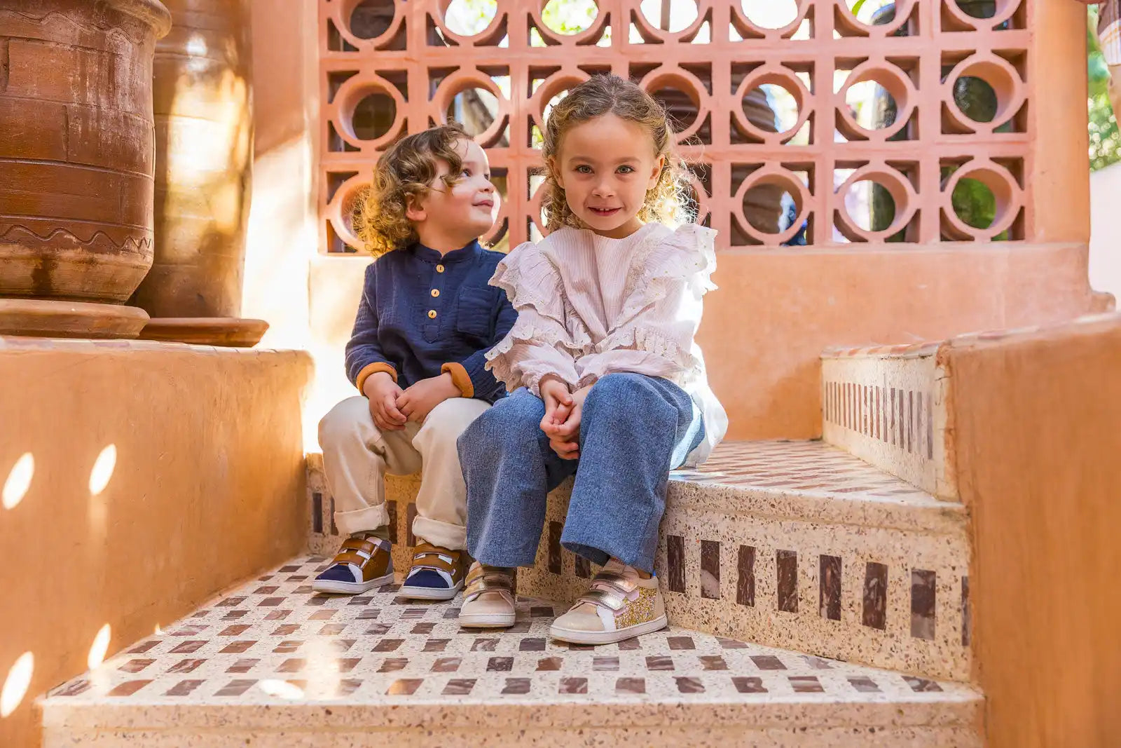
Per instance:
[[[981,746],[969,686],[667,629],[548,638],[519,598],[502,632],[390,584],[313,594],[300,557],[54,689],[44,747]]]

